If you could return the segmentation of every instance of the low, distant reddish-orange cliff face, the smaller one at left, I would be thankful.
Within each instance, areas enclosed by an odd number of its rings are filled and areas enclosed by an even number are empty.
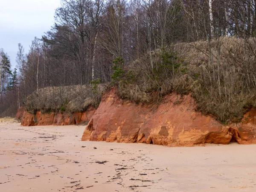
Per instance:
[[[41,113],[41,111],[31,114],[27,111],[23,113],[21,125],[78,125],[89,122],[96,109],[90,106],[87,111],[75,113]]]

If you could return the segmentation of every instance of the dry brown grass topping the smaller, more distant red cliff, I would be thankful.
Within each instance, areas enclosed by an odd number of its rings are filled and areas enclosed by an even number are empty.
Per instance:
[[[96,93],[93,93],[92,85],[74,85],[63,87],[46,87],[32,93],[26,101],[29,112],[42,111],[85,111],[90,105],[97,108],[105,90],[105,84],[99,84]]]

